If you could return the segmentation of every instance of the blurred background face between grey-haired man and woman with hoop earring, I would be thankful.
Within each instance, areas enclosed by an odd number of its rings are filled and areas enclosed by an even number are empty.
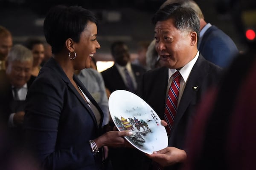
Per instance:
[[[39,66],[44,60],[44,44],[35,44],[31,50],[33,54],[33,67]]]

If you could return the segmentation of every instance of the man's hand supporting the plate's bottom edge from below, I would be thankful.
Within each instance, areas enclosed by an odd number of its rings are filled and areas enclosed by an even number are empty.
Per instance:
[[[185,150],[180,150],[176,147],[166,147],[152,154],[146,154],[148,158],[157,162],[163,167],[171,166],[173,164],[182,163],[186,160]]]

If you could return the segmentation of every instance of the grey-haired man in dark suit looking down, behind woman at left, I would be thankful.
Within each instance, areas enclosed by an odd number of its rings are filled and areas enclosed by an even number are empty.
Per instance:
[[[25,98],[35,77],[31,76],[33,56],[22,45],[12,47],[6,59],[6,72],[0,73],[0,114],[8,126],[11,143],[22,144]]]

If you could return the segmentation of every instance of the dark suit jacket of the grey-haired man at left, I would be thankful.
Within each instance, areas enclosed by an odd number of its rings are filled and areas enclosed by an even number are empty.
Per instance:
[[[31,76],[27,82],[27,87],[31,86],[32,82],[35,80],[35,76]],[[24,111],[25,110],[25,101],[15,101],[12,95],[12,85],[6,75],[5,70],[0,71],[0,118],[3,121],[4,126],[7,128],[10,143],[14,147],[22,144],[23,142],[23,127],[8,127],[8,121],[11,113]]]

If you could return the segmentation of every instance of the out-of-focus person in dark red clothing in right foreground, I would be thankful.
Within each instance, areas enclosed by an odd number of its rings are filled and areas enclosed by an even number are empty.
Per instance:
[[[240,42],[247,50],[236,57],[218,88],[207,93],[198,107],[201,118],[189,133],[184,170],[255,169],[256,40],[248,40],[245,32],[247,28],[255,30],[256,20],[245,21],[256,16],[244,13],[255,11],[256,4],[248,0],[227,1]]]

